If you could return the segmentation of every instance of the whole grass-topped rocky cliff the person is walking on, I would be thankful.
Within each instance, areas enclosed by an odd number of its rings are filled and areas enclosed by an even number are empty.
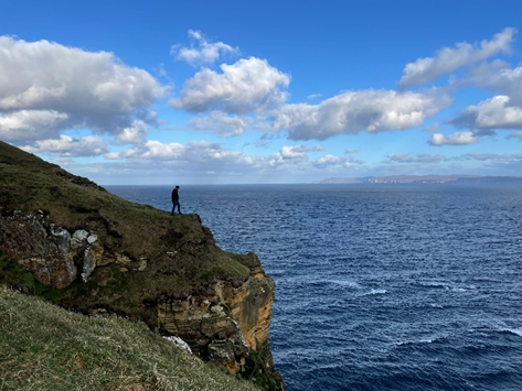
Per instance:
[[[126,202],[0,142],[0,283],[84,314],[118,314],[187,341],[265,389],[274,281],[215,246],[198,215]]]

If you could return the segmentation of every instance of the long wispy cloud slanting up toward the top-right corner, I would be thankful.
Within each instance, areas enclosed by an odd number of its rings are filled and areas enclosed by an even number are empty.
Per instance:
[[[516,29],[507,28],[493,35],[490,41],[483,40],[480,44],[460,42],[454,48],[441,48],[434,57],[419,58],[415,63],[406,64],[398,84],[400,88],[405,89],[432,82],[460,67],[473,65],[499,53],[509,53],[515,34]]]

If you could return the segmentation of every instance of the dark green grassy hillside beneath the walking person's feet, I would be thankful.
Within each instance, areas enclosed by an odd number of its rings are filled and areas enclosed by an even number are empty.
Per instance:
[[[215,247],[212,233],[196,215],[172,217],[124,200],[87,178],[0,142],[0,213],[2,206],[26,213],[41,209],[49,214],[50,222],[70,231],[102,227],[106,250],[149,259],[143,272],[129,271],[122,278],[116,265],[97,268],[87,284],[75,282],[54,292],[50,298],[66,307],[86,311],[103,305],[134,316],[141,303],[162,294],[184,297],[204,293],[216,279],[239,284],[249,275],[242,262],[244,256],[231,256]],[[178,252],[172,258],[167,256],[169,251]],[[94,291],[96,297],[87,295]],[[137,313],[136,317],[142,315]]]

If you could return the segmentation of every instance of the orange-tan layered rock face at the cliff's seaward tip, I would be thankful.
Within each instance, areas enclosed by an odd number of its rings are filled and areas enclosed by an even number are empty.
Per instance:
[[[184,300],[162,297],[158,322],[162,330],[182,336],[201,357],[241,371],[251,349],[268,340],[274,281],[248,254],[251,276],[239,286],[220,281],[214,294]]]

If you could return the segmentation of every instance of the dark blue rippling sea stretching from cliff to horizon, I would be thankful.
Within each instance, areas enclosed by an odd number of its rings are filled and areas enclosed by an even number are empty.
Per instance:
[[[168,187],[109,187],[170,210]],[[277,284],[288,390],[522,390],[522,186],[182,186]]]

